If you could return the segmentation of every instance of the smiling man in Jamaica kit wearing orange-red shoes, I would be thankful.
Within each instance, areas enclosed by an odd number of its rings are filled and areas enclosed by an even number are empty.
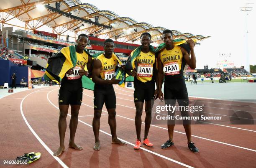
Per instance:
[[[142,33],[141,52],[135,60],[136,68],[133,71],[127,71],[127,74],[134,76],[133,83],[135,90],[133,96],[136,107],[135,127],[137,134],[134,149],[139,149],[141,147],[141,115],[144,100],[146,117],[143,144],[147,145],[148,147],[153,147],[153,144],[148,140],[148,132],[151,125],[151,109],[153,106],[153,104],[151,104],[151,100],[154,102],[157,92],[155,93],[156,60],[155,53],[149,50],[150,43],[151,35],[149,33]]]

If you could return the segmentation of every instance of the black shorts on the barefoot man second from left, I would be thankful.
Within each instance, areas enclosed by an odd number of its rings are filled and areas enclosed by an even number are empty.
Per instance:
[[[101,110],[103,104],[107,109],[115,109],[116,107],[116,97],[113,85],[94,85],[93,91],[93,104],[95,110]]]

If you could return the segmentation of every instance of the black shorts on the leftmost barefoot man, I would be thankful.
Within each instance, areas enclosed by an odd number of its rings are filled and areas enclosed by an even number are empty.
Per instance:
[[[83,88],[81,83],[61,82],[59,89],[59,105],[81,105],[83,98]]]

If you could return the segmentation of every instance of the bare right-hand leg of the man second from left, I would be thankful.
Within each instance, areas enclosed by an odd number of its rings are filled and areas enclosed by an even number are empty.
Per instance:
[[[111,135],[112,135],[112,143],[119,145],[126,145],[123,141],[118,140],[116,135],[116,120],[115,120],[115,108],[107,109],[108,110],[108,125],[110,126]]]

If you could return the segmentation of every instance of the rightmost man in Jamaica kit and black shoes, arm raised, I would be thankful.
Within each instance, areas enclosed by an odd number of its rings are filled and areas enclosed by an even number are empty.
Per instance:
[[[180,46],[173,45],[172,31],[164,30],[163,39],[166,47],[158,53],[158,97],[160,100],[165,99],[167,105],[175,105],[175,102],[179,103],[179,106],[187,106],[189,104],[187,87],[185,84],[183,70],[186,64],[188,64],[192,69],[196,67],[196,58],[194,53],[195,42],[193,40],[188,40],[190,46],[191,58],[189,53]],[[161,87],[164,82],[164,96],[161,92]],[[182,111],[183,115],[189,115],[189,112]],[[168,123],[168,133],[169,140],[166,141],[161,148],[168,148],[174,145],[173,141],[173,132],[174,132],[175,123]],[[189,121],[183,121],[183,126],[187,135],[187,144],[189,149],[197,153],[199,152],[198,148],[195,147],[194,143],[191,140],[191,125]]]

